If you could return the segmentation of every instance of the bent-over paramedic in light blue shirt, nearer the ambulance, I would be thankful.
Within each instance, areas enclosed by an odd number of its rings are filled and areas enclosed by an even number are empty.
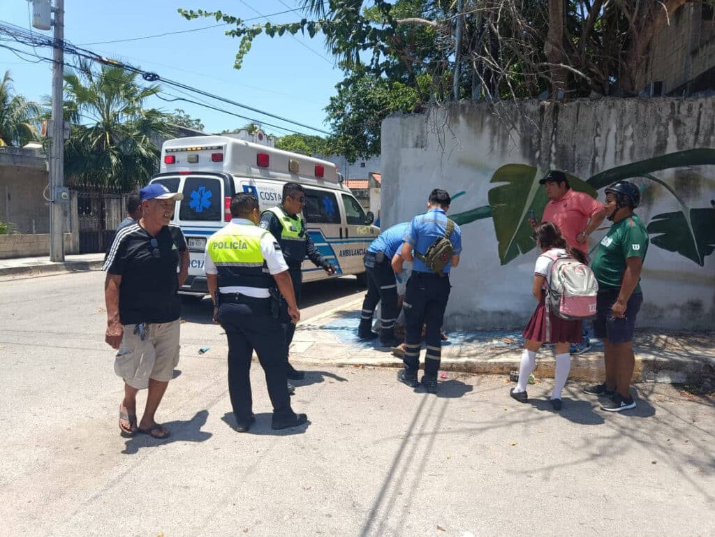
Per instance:
[[[398,285],[392,262],[402,250],[404,237],[410,229],[410,222],[388,227],[370,242],[365,252],[365,272],[368,275],[368,294],[363,300],[358,338],[372,340],[378,337],[373,332],[373,315],[380,302],[380,345],[395,347],[395,321],[398,318]]]

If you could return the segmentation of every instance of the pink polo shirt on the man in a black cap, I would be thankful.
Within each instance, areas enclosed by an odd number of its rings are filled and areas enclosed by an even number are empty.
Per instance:
[[[569,246],[588,253],[588,244],[580,245],[576,235],[586,229],[588,219],[606,208],[585,192],[566,190],[561,199],[550,201],[543,210],[542,222],[553,222]]]

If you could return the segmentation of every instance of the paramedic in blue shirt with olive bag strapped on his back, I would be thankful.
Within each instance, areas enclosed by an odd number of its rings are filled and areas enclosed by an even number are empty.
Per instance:
[[[462,232],[458,225],[449,239],[454,247],[452,259],[442,272],[435,273],[423,261],[413,256],[413,250],[425,254],[439,237],[444,237],[447,230],[447,211],[452,199],[445,190],[434,189],[427,201],[427,212],[417,215],[410,223],[405,235],[405,243],[400,257],[393,261],[393,270],[402,272],[403,262],[412,261],[412,275],[407,283],[403,309],[405,310],[405,368],[398,373],[398,380],[411,388],[419,385],[417,371],[420,367],[420,340],[422,327],[425,327],[425,373],[422,385],[428,393],[437,393],[437,373],[442,357],[442,338],[440,330],[444,319],[451,285],[450,270],[459,264],[462,252]]]

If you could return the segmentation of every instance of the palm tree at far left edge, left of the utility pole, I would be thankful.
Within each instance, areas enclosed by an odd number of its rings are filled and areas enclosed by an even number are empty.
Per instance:
[[[10,72],[0,82],[0,146],[23,146],[38,139],[37,122],[40,107],[15,95]]]

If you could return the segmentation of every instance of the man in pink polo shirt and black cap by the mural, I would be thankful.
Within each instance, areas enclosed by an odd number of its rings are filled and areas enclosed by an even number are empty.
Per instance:
[[[568,184],[568,177],[563,172],[552,170],[539,180],[546,189],[548,203],[543,210],[542,222],[553,222],[561,230],[561,235],[569,246],[578,248],[588,255],[588,235],[591,235],[606,217],[606,206],[585,192],[576,192]],[[537,222],[530,220],[532,227]],[[584,332],[585,323],[584,323]],[[591,343],[583,335],[583,341],[571,346],[572,354],[589,350]]]

